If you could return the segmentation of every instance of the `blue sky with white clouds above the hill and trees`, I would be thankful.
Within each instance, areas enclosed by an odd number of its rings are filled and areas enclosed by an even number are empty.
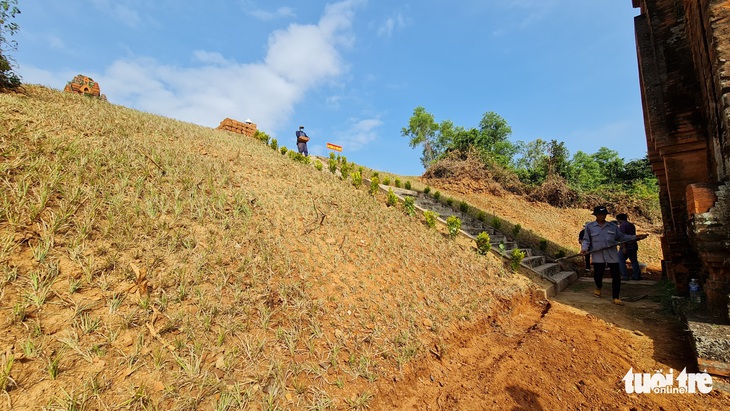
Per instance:
[[[76,74],[111,103],[216,127],[251,119],[313,154],[420,175],[401,129],[423,106],[571,155],[646,154],[630,0],[20,0],[11,53],[26,83]]]

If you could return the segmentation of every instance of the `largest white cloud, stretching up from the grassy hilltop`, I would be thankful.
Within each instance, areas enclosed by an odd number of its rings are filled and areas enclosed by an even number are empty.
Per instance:
[[[275,31],[263,62],[236,63],[198,50],[194,67],[119,59],[94,79],[112,103],[210,127],[226,117],[250,118],[275,135],[309,90],[346,71],[339,50],[354,41],[350,28],[361,3],[331,4],[316,25]]]

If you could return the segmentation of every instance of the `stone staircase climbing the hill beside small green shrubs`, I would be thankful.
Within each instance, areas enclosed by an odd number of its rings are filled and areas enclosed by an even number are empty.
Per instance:
[[[520,263],[522,269],[528,270],[546,280],[548,284],[545,287],[546,297],[552,297],[558,294],[578,280],[578,274],[575,271],[565,270],[560,263],[543,255],[540,251],[522,247],[504,233],[499,232],[494,227],[478,220],[469,213],[455,211],[451,206],[418,191],[385,186],[382,184],[380,185],[380,189],[384,192],[393,190],[393,193],[401,200],[404,200],[405,197],[413,197],[416,209],[420,212],[424,212],[426,210],[436,212],[439,215],[438,221],[441,224],[446,225],[446,219],[449,216],[458,217],[462,222],[460,234],[471,240],[475,241],[477,235],[481,232],[488,233],[490,243],[492,244],[492,252],[498,254],[505,260],[509,260],[512,250],[519,248],[523,253],[525,253],[525,257]]]

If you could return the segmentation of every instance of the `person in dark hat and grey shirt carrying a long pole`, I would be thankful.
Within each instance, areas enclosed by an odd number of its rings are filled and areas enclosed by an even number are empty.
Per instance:
[[[593,215],[596,216],[596,220],[586,224],[580,250],[583,255],[591,254],[593,259],[593,281],[596,283],[593,295],[596,297],[601,296],[603,273],[606,272],[606,266],[608,266],[611,271],[611,297],[613,303],[624,305],[619,296],[621,292],[621,270],[618,265],[619,258],[616,243],[645,238],[646,235],[625,234],[616,223],[606,221],[608,210],[605,206],[594,207]],[[590,250],[595,251],[591,252]]]

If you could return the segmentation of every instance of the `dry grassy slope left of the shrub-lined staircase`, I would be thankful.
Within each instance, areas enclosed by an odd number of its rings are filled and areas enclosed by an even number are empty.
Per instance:
[[[243,136],[29,86],[0,155],[16,409],[362,408],[529,288]]]

